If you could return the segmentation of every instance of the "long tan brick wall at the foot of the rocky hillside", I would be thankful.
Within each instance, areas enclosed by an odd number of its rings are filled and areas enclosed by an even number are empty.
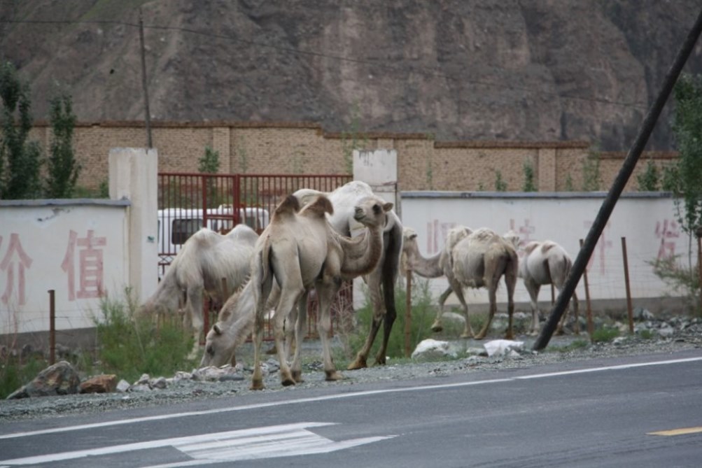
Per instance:
[[[113,147],[143,147],[146,133],[140,122],[79,123],[74,149],[83,166],[79,185],[95,188],[107,179],[107,154]],[[51,129],[37,123],[32,138],[48,147]],[[398,182],[402,190],[492,191],[498,174],[509,191],[524,186],[524,164],[534,168],[541,192],[583,186],[583,163],[588,142],[441,142],[422,133],[367,133],[357,141],[364,149],[396,149]],[[317,123],[155,122],[152,142],[159,151],[159,171],[197,172],[205,147],[220,154],[222,173],[348,173],[352,138],[329,133]],[[600,154],[602,189],[616,177],[625,153]],[[649,152],[629,181],[637,189],[636,174],[650,159],[659,168],[675,152]]]

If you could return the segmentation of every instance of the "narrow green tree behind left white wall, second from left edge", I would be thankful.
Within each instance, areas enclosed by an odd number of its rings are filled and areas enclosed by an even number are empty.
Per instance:
[[[73,150],[76,116],[73,114],[71,97],[67,94],[53,98],[49,105],[53,140],[47,161],[46,196],[54,199],[70,198],[81,171]]]

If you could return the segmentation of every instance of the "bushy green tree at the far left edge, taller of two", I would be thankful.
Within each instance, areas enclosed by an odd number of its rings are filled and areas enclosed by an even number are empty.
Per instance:
[[[27,142],[32,129],[29,90],[9,62],[0,64],[0,198],[33,199],[41,195],[41,149]],[[15,113],[18,120],[15,121]]]

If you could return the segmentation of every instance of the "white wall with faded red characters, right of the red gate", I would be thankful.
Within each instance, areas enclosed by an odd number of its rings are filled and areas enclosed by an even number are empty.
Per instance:
[[[500,234],[514,229],[522,242],[550,239],[560,243],[575,260],[580,239],[602,206],[604,194],[501,194],[475,192],[402,192],[402,222],[418,232],[420,251],[425,257],[444,245],[448,229],[454,225],[489,227]],[[682,255],[687,262],[689,239],[677,224],[673,199],[662,193],[625,194],[617,203],[588,263],[590,296],[594,300],[618,303],[625,310],[625,281],[621,238],[625,237],[634,307],[656,309],[666,295],[676,295],[653,273],[649,262],[668,255]],[[696,242],[692,243],[696,264]],[[432,293],[439,295],[445,279],[430,281]],[[485,290],[470,291],[466,300],[485,304]],[[585,300],[583,281],[576,292]],[[453,297],[453,296],[452,296]],[[655,300],[649,300],[654,298]],[[550,300],[550,288],[543,288],[540,302]],[[498,300],[506,301],[504,284]],[[529,302],[521,280],[515,300]],[[584,304],[584,302],[583,302]]]

